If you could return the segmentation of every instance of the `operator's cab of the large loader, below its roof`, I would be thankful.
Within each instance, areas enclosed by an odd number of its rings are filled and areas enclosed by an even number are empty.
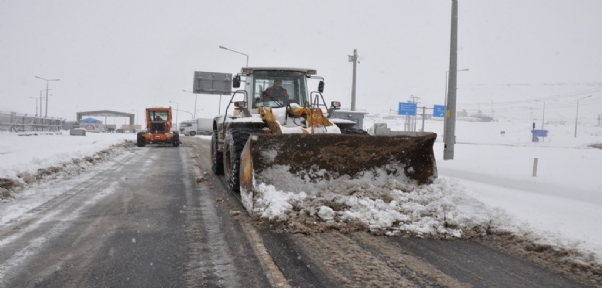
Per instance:
[[[304,106],[307,103],[307,74],[300,71],[284,70],[255,70],[247,77],[247,93],[250,96],[251,108],[257,107],[284,107],[289,103]],[[263,92],[274,86],[276,80],[282,81],[282,88],[286,89],[288,99],[283,103],[268,101],[263,97]]]

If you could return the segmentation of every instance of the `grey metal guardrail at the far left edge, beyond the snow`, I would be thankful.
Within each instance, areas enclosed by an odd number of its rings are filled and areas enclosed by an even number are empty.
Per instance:
[[[58,132],[63,129],[64,124],[65,119],[44,118],[19,114],[17,112],[0,111],[0,131],[15,133],[30,131]]]

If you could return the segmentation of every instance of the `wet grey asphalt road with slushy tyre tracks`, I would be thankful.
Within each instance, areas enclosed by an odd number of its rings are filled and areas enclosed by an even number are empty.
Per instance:
[[[495,238],[260,225],[211,174],[209,141],[182,141],[115,148],[126,151],[38,188],[56,196],[0,226],[0,287],[586,287]]]

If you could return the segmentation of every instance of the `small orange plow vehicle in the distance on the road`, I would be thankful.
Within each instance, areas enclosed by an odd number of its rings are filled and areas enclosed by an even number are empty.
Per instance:
[[[180,134],[171,131],[171,107],[146,108],[146,131],[136,134],[136,145],[144,147],[147,144],[170,144],[180,146]]]

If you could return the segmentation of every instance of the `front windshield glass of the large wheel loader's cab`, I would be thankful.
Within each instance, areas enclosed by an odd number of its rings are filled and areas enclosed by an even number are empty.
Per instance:
[[[253,72],[253,108],[261,106],[284,107],[290,103],[303,106],[307,101],[306,76],[297,71],[254,71]],[[280,83],[275,83],[279,81]],[[278,85],[285,89],[287,96],[279,99],[271,99],[273,93],[270,90],[279,89]]]

